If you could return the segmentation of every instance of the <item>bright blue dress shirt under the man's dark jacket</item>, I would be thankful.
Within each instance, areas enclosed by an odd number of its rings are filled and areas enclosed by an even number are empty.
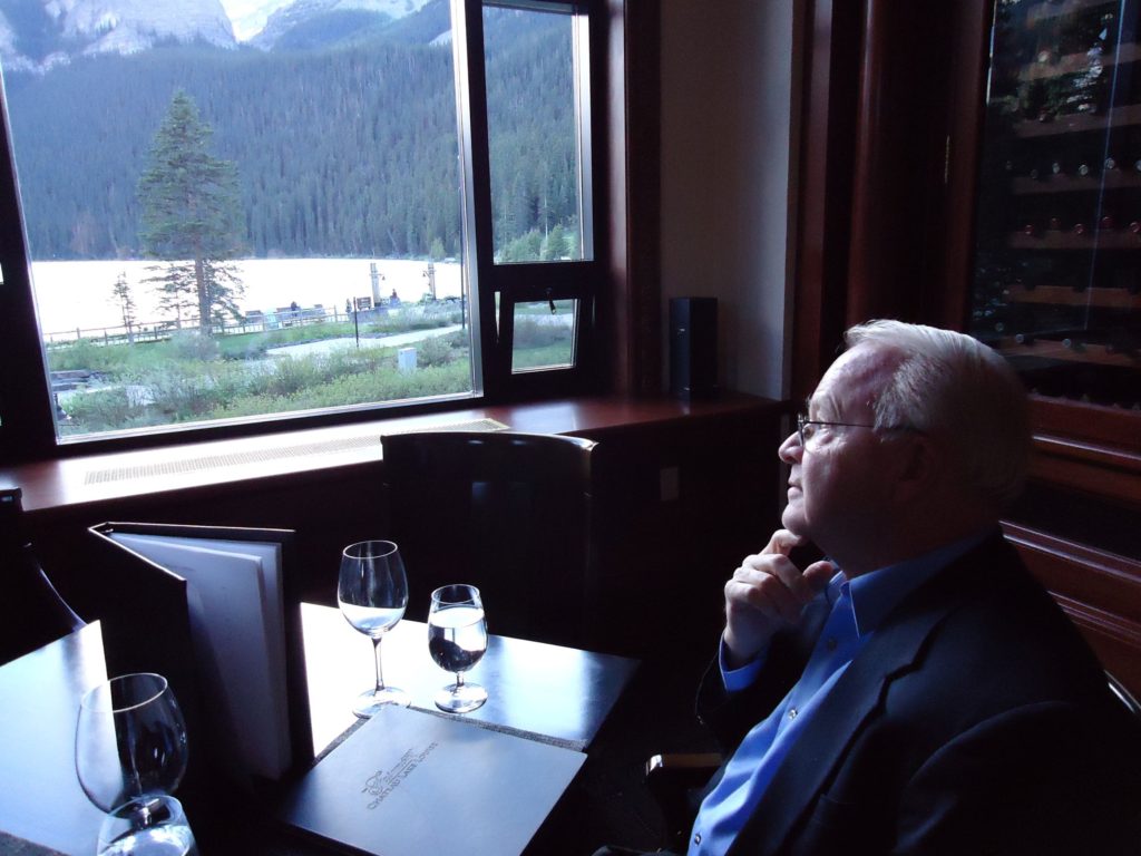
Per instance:
[[[768,718],[745,735],[721,781],[702,802],[689,839],[689,856],[720,856],[729,849],[806,724],[884,616],[985,536],[964,539],[855,580],[848,580],[843,572],[832,578],[827,589],[817,596],[827,598],[832,609],[804,672]],[[721,676],[730,693],[750,686],[764,663],[762,653],[730,671],[725,667],[723,644],[720,656]]]

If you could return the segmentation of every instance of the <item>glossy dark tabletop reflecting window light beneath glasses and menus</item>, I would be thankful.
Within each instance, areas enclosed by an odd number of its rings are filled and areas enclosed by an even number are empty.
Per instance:
[[[374,681],[373,646],[332,606],[301,604],[301,623],[319,762],[362,721],[353,713],[353,700]],[[487,702],[468,713],[445,713],[432,697],[454,675],[431,660],[427,636],[424,623],[405,620],[381,644],[386,681],[407,692],[412,708],[588,756],[639,664],[615,654],[491,635],[487,652],[467,673],[486,687]],[[95,853],[103,814],[75,775],[74,733],[82,695],[108,677],[98,621],[0,665],[0,853]],[[324,851],[276,829],[258,840],[267,854]]]

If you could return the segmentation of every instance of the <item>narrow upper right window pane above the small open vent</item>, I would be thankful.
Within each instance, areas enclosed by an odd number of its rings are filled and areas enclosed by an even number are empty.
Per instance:
[[[549,6],[484,8],[492,233],[501,264],[592,258],[581,21],[568,6]]]

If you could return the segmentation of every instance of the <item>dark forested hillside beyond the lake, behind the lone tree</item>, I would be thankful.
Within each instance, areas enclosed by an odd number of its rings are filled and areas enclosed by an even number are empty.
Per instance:
[[[576,217],[566,19],[501,15],[487,46],[497,242]],[[245,255],[458,256],[443,21],[446,2],[434,0],[389,26],[342,13],[270,51],[169,45],[6,73],[33,258],[140,256],[139,176],[178,90],[212,128],[213,154],[236,167]]]

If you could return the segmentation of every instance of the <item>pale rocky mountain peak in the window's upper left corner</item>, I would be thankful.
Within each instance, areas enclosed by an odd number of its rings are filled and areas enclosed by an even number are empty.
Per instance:
[[[237,45],[220,0],[0,0],[0,62],[7,72],[192,42]]]

